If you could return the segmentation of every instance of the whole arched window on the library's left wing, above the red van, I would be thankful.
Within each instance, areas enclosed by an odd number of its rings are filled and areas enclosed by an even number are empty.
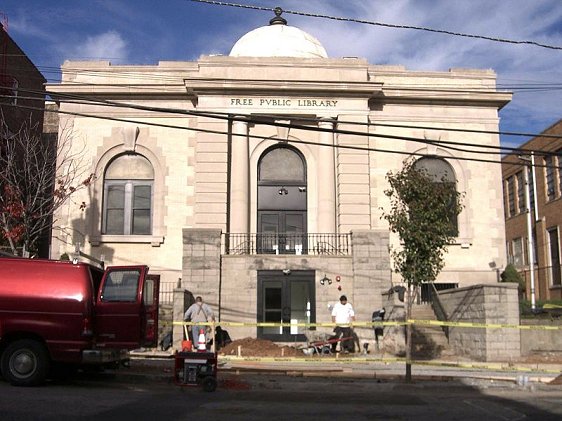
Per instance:
[[[139,154],[119,155],[105,170],[103,234],[150,235],[154,169]]]

